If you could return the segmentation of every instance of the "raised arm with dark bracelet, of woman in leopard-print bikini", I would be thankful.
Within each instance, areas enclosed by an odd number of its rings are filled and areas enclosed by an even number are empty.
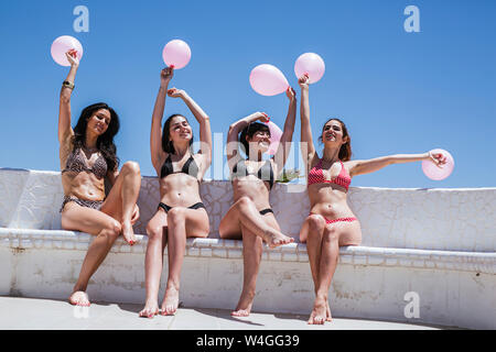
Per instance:
[[[74,135],[74,131],[71,127],[71,95],[73,94],[74,80],[76,78],[77,68],[79,67],[76,51],[71,50],[65,53],[65,56],[71,63],[71,70],[62,85],[61,102],[58,105],[58,143],[61,144],[66,143],[68,139]]]

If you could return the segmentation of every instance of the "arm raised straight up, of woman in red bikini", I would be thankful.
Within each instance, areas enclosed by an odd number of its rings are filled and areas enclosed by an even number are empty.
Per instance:
[[[319,158],[313,145],[312,128],[310,127],[310,102],[309,102],[309,76],[300,77],[298,84],[301,88],[300,119],[301,119],[301,153],[305,161],[306,172],[313,162]]]

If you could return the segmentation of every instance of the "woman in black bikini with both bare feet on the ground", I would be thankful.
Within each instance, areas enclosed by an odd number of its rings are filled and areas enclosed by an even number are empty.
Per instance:
[[[184,90],[168,89],[173,74],[173,68],[164,68],[161,73],[161,85],[151,125],[151,160],[160,176],[160,204],[157,213],[147,226],[148,248],[144,262],[147,298],[139,316],[148,318],[153,318],[160,310],[162,315],[175,314],[186,238],[206,238],[209,232],[208,216],[200,198],[200,182],[212,161],[209,118]],[[192,153],[193,131],[185,117],[171,116],[162,131],[166,96],[183,99],[198,121],[201,140],[198,153],[194,155]],[[163,251],[168,244],[169,278],[159,310],[158,295]]]

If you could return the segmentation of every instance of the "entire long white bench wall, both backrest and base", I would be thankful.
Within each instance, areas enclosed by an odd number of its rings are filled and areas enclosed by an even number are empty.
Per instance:
[[[201,191],[212,233],[187,242],[181,300],[234,308],[242,244],[217,234],[233,200],[230,184],[206,182]],[[60,173],[0,169],[0,295],[67,298],[91,237],[57,231],[62,197]],[[309,209],[304,188],[276,185],[271,197],[282,230],[296,237]],[[158,198],[157,178],[144,177],[138,233],[144,233]],[[496,188],[352,187],[349,202],[364,241],[341,249],[330,292],[333,316],[496,329],[495,200]],[[143,302],[147,237],[139,240],[133,248],[117,241],[90,280],[91,299]],[[418,318],[405,316],[409,292],[419,295]],[[306,316],[313,298],[304,244],[265,251],[255,310]]]

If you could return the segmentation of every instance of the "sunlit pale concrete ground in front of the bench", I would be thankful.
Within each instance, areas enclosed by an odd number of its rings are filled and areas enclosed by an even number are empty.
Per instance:
[[[230,310],[180,308],[175,316],[139,318],[141,305],[93,302],[89,308],[41,298],[0,297],[0,330],[440,330],[418,323],[334,318],[306,324],[308,316],[252,312],[233,318]]]

